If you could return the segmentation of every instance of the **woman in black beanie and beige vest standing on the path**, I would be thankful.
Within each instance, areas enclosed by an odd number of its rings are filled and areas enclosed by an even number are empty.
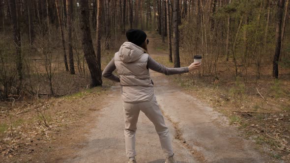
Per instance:
[[[181,74],[193,71],[201,63],[192,63],[188,67],[168,68],[156,62],[147,54],[146,34],[139,29],[126,32],[128,42],[123,43],[115,57],[103,71],[102,76],[120,82],[121,97],[125,119],[125,146],[128,163],[136,163],[135,133],[140,110],[154,124],[164,155],[165,163],[176,163],[172,149],[170,134],[159,109],[150,78],[149,69],[166,75]],[[117,69],[119,77],[112,74]]]

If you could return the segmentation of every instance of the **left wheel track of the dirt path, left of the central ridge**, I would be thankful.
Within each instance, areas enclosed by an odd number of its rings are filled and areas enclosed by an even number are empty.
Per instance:
[[[126,163],[124,143],[124,122],[122,101],[119,86],[113,87],[108,100],[115,99],[104,109],[98,111],[99,117],[90,133],[87,134],[87,145],[78,151],[77,157],[68,159],[67,163]],[[170,131],[174,134],[173,125],[167,120]],[[139,163],[162,163],[164,157],[158,135],[153,124],[140,113],[137,129],[137,159]],[[180,163],[194,163],[191,153],[178,140],[173,140],[176,157]]]

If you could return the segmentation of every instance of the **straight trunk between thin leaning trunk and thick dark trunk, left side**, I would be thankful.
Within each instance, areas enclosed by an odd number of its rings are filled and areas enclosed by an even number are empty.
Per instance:
[[[75,74],[74,67],[74,55],[71,43],[71,30],[72,30],[72,0],[66,0],[66,14],[67,14],[67,28],[68,28],[68,60],[69,60],[69,72],[70,74]]]

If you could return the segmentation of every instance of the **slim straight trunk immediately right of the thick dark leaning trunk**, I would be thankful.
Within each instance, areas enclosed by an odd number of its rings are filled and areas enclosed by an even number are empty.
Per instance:
[[[101,27],[101,21],[102,21],[102,6],[103,6],[103,0],[98,0],[98,12],[97,12],[97,74],[99,77],[99,85],[102,84],[101,80],[101,33],[102,33],[102,27]]]

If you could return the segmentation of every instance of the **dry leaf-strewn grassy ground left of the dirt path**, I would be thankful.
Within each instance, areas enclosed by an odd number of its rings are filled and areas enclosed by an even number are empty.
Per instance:
[[[102,52],[102,69],[114,54],[115,50]],[[33,86],[39,85],[38,93],[43,94],[41,98],[35,99],[27,94],[13,106],[10,101],[0,103],[0,162],[2,163],[32,162],[33,157],[34,161],[37,161],[39,155],[44,156],[53,151],[53,144],[59,143],[61,136],[73,132],[68,129],[74,129],[75,125],[80,126],[82,119],[87,120],[91,111],[99,109],[98,106],[101,106],[108,87],[114,85],[113,81],[104,80],[104,86],[89,89],[89,74],[81,76],[76,69],[76,75],[69,75],[63,66],[55,74],[61,80],[61,83],[54,81],[54,84],[59,84],[58,97],[50,97],[45,95],[50,92],[43,61],[34,60],[33,64],[33,67],[37,67],[35,69],[37,72],[32,73],[31,81]],[[89,73],[88,70],[86,71]],[[57,145],[55,144],[55,148]]]

